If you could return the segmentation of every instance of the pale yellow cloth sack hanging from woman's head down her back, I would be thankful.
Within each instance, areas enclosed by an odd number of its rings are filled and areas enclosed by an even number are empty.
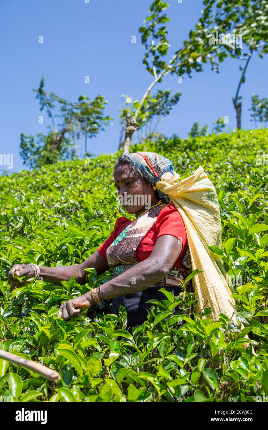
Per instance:
[[[157,182],[158,190],[168,194],[171,203],[182,216],[187,233],[192,269],[203,272],[193,278],[197,302],[195,312],[211,307],[212,313],[206,318],[217,319],[219,313],[232,318],[237,310],[228,277],[220,258],[208,246],[222,246],[222,226],[219,202],[215,187],[202,166],[193,175],[180,182],[174,172],[164,173]],[[229,286],[229,285],[230,286]],[[235,323],[236,319],[232,318]]]

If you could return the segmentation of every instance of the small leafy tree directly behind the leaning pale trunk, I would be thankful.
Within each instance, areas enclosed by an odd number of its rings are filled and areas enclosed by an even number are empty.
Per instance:
[[[151,96],[150,94],[147,95],[147,98],[141,107],[139,117],[136,119],[136,130],[140,142],[149,139],[152,140],[153,137],[157,136],[156,129],[160,119],[169,115],[172,107],[178,103],[179,97],[182,95],[179,91],[174,95],[171,95],[170,93],[170,89],[167,89],[166,91],[159,89],[154,96]],[[122,132],[118,149],[123,146],[125,118],[129,118],[127,117],[127,114],[133,111],[139,104],[138,100],[132,101],[132,98],[129,96],[123,95],[122,98],[123,106],[120,113]],[[132,121],[133,117],[130,118],[130,126],[132,125]]]

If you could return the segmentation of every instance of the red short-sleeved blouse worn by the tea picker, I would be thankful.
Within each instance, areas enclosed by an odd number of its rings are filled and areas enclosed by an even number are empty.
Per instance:
[[[131,221],[124,216],[118,218],[114,224],[114,231],[112,231],[108,239],[106,239],[105,242],[102,243],[102,245],[98,248],[100,255],[102,255],[106,261],[106,250],[111,245],[111,243],[114,242],[117,236],[119,236],[119,234],[130,224],[130,222]],[[140,263],[141,261],[150,257],[158,237],[163,236],[164,234],[174,236],[177,239],[180,239],[182,242],[182,252],[174,263],[174,266],[185,269],[186,267],[182,264],[182,258],[188,249],[187,235],[182,217],[173,203],[169,203],[161,210],[153,227],[151,227],[151,229],[148,231],[148,233],[146,233],[145,237],[139,243],[139,246],[136,249],[137,260]]]

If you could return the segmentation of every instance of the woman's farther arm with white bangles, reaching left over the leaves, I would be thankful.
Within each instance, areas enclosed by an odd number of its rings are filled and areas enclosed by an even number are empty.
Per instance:
[[[107,261],[100,255],[99,251],[95,251],[94,254],[90,255],[83,263],[74,266],[60,266],[60,267],[40,267],[40,277],[43,278],[45,282],[51,282],[57,285],[61,285],[62,281],[68,281],[73,276],[76,276],[75,280],[79,284],[86,283],[87,272],[83,271],[88,267],[96,269],[97,274],[105,272],[109,269]],[[8,280],[12,287],[22,286],[24,283],[20,283],[17,279],[13,278],[15,276],[26,276],[26,278],[31,278],[34,276],[34,268],[28,264],[14,264],[8,273]]]

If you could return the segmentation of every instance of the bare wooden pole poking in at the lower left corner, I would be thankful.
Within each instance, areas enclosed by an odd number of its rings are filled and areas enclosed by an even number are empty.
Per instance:
[[[43,378],[49,379],[49,381],[57,382],[61,379],[61,375],[49,367],[43,366],[35,361],[28,360],[26,358],[19,357],[7,351],[0,350],[0,358],[7,360],[18,366],[22,366],[25,369],[32,370],[33,372],[39,373]]]

